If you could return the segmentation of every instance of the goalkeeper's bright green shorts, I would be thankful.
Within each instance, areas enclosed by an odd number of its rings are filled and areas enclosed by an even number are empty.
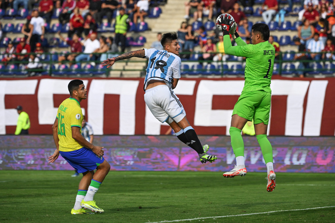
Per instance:
[[[239,100],[234,106],[232,115],[238,116],[252,121],[254,124],[264,123],[269,124],[271,105],[271,93],[263,90],[257,91],[242,91]]]

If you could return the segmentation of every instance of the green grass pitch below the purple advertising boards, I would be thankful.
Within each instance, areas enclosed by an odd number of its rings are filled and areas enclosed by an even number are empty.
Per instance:
[[[277,173],[269,193],[266,173],[113,171],[94,197],[105,213],[71,215],[72,173],[1,170],[0,222],[335,222],[334,173]],[[317,207],[328,208],[280,211]],[[246,215],[269,211],[280,212]]]

